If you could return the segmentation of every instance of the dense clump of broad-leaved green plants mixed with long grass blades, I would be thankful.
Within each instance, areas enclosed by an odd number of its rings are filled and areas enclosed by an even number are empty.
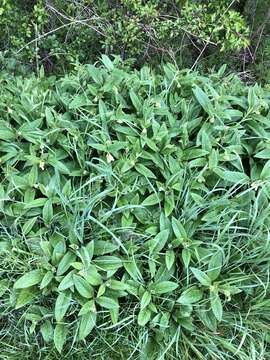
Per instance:
[[[224,71],[1,75],[7,327],[59,352],[117,332],[125,359],[267,356],[269,93]]]

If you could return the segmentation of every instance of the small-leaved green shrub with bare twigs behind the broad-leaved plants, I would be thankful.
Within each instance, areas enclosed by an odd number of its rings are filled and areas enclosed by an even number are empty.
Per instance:
[[[170,59],[187,66],[208,42],[222,52],[248,45],[245,20],[227,0],[4,0],[0,9],[0,48],[9,67],[12,57],[63,71],[76,59],[95,61],[101,51],[136,65]]]

